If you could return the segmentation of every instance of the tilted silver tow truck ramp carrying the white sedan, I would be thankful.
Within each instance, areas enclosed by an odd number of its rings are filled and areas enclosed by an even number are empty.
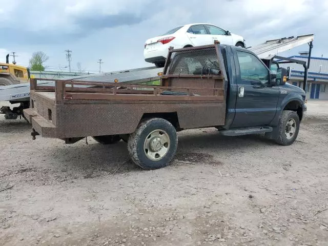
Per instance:
[[[249,47],[261,59],[270,59],[278,53],[288,51],[300,45],[310,43],[314,40],[314,34],[305,34],[300,36],[283,37],[279,39],[267,40],[266,42]],[[118,82],[126,83],[142,83],[159,79],[158,73],[162,72],[162,68],[146,67],[130,70],[121,70],[108,73],[89,74],[74,77],[67,77],[66,80],[74,81],[97,81],[102,83],[114,83],[117,79]],[[41,85],[42,82],[39,82]],[[48,81],[44,84],[54,85],[53,82]],[[30,83],[10,85],[0,87],[0,101],[15,101],[15,100],[29,100],[30,97]]]

